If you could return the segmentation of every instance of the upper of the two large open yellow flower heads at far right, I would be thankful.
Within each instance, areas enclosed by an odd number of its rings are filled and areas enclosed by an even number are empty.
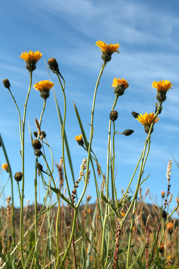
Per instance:
[[[172,85],[174,84],[171,84],[170,80],[160,80],[159,82],[154,81],[152,83],[152,88],[157,89],[157,101],[164,102],[167,99],[166,93],[169,89],[172,89]]]

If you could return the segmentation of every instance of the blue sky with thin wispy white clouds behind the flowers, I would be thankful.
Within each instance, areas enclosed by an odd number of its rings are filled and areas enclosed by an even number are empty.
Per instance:
[[[8,78],[21,115],[26,100],[29,74],[24,68],[24,61],[19,58],[22,51],[42,52],[42,58],[33,72],[33,85],[40,80],[49,79],[44,65],[55,57],[59,69],[66,82],[67,121],[66,133],[71,150],[71,157],[76,178],[80,165],[87,157],[74,136],[81,134],[73,107],[73,100],[78,108],[86,135],[89,139],[91,108],[95,83],[101,69],[101,52],[95,45],[101,40],[106,43],[119,43],[118,55],[114,53],[112,61],[107,63],[101,77],[96,97],[94,136],[92,149],[96,153],[103,173],[106,172],[107,139],[109,112],[114,101],[111,88],[114,77],[127,80],[129,87],[119,97],[116,110],[119,118],[115,128],[118,132],[133,129],[130,137],[115,137],[116,146],[116,188],[118,197],[121,187],[125,189],[133,174],[144,146],[146,133],[143,126],[131,116],[131,111],[155,112],[156,90],[151,89],[152,82],[170,80],[173,90],[167,92],[167,100],[163,103],[160,120],[154,126],[151,137],[151,148],[145,167],[144,178],[149,178],[142,186],[142,195],[150,187],[151,196],[157,195],[161,203],[161,190],[167,190],[166,168],[169,159],[174,155],[179,162],[178,154],[178,113],[179,113],[179,77],[178,77],[178,29],[179,3],[171,1],[86,1],[86,0],[38,0],[38,1],[3,1],[1,3],[1,81]],[[55,83],[55,91],[63,114],[63,95],[55,74],[51,74]],[[1,84],[0,99],[0,133],[5,144],[12,172],[22,170],[20,158],[20,139],[18,114],[9,91]],[[27,117],[31,130],[35,130],[34,118],[40,118],[43,100],[38,91],[31,89],[27,106]],[[53,94],[47,100],[42,130],[52,148],[54,161],[59,162],[62,155],[60,126],[55,108]],[[34,164],[35,156],[31,147],[28,125],[26,121],[25,139],[25,198],[34,200]],[[51,157],[46,149],[51,163]],[[5,162],[2,149],[0,162]],[[40,159],[43,163],[43,160]],[[57,171],[54,171],[56,177]],[[179,169],[173,161],[171,175],[171,192],[178,196]],[[1,171],[1,188],[8,179],[8,174]],[[73,183],[68,172],[71,190]],[[100,180],[99,180],[100,182]],[[137,176],[131,185],[135,189]],[[83,184],[81,182],[80,184]],[[10,194],[9,183],[2,195],[2,203]],[[43,200],[42,183],[40,188]],[[78,188],[78,196],[82,187]],[[89,193],[95,201],[94,179],[91,173]],[[88,193],[87,193],[88,194]],[[19,198],[14,182],[15,204],[19,206]],[[172,206],[176,203],[173,199]],[[147,198],[147,201],[150,201]],[[156,202],[156,201],[154,201]]]

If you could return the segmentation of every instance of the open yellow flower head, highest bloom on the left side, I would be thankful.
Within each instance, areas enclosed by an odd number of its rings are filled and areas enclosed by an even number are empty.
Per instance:
[[[42,53],[40,51],[29,51],[29,52],[22,52],[22,54],[19,56],[26,62],[26,69],[29,72],[32,72],[36,68],[36,63],[39,61],[39,59],[42,57]]]

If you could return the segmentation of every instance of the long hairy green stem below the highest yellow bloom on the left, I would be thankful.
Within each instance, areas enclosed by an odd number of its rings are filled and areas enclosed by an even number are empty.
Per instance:
[[[25,120],[26,120],[26,109],[27,109],[27,101],[30,94],[30,89],[32,85],[32,71],[30,74],[30,85],[26,97],[26,102],[24,104],[24,117],[22,122],[22,193],[21,193],[21,204],[20,204],[20,257],[23,269],[24,268],[24,256],[23,256],[23,203],[24,203],[24,133],[25,133]]]

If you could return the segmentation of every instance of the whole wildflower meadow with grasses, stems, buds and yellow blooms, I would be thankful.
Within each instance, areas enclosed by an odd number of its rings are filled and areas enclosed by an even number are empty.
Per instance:
[[[74,104],[75,113],[81,129],[81,135],[75,137],[79,146],[83,147],[88,153],[88,157],[81,160],[79,176],[76,178],[65,133],[66,122],[66,96],[65,79],[59,71],[58,63],[55,58],[48,60],[49,69],[56,74],[64,98],[64,114],[61,116],[56,99],[53,83],[49,80],[40,81],[33,87],[40,92],[44,100],[40,119],[35,118],[37,131],[30,136],[35,154],[35,179],[34,179],[34,205],[24,206],[24,131],[26,121],[26,109],[28,97],[31,90],[32,75],[36,69],[37,62],[42,54],[36,52],[23,52],[20,55],[26,62],[26,69],[30,74],[30,84],[24,104],[23,117],[20,114],[15,98],[10,91],[8,79],[3,80],[5,88],[15,102],[19,114],[20,141],[22,172],[17,171],[14,176],[10,169],[10,163],[6,154],[3,139],[0,137],[1,146],[6,158],[6,164],[2,168],[9,173],[11,180],[11,196],[6,199],[6,208],[1,207],[1,234],[0,234],[0,264],[1,268],[178,268],[178,214],[179,200],[176,198],[176,207],[169,213],[169,204],[172,200],[170,194],[170,174],[172,161],[169,160],[167,167],[168,189],[166,194],[162,193],[163,205],[148,205],[145,197],[142,197],[142,183],[147,179],[142,179],[145,163],[150,150],[151,135],[155,124],[159,121],[158,114],[162,111],[162,102],[166,100],[166,93],[171,89],[170,81],[162,80],[153,82],[156,88],[156,111],[155,113],[145,113],[144,115],[132,112],[133,116],[144,126],[146,139],[144,149],[136,164],[136,168],[127,189],[122,189],[122,196],[117,197],[115,179],[115,140],[116,134],[129,136],[134,131],[124,130],[122,133],[115,131],[115,121],[118,112],[114,110],[118,98],[125,93],[129,86],[125,79],[114,78],[112,87],[115,93],[114,103],[111,106],[109,116],[108,132],[108,154],[106,175],[101,170],[101,166],[95,153],[91,149],[93,138],[93,121],[95,111],[96,93],[99,80],[102,79],[103,70],[112,59],[112,54],[118,52],[119,44],[107,45],[102,41],[97,41],[96,45],[102,52],[103,64],[99,73],[96,87],[94,89],[94,99],[91,109],[90,137],[86,137],[83,124]],[[48,69],[47,68],[47,69]],[[49,74],[50,78],[50,74]],[[51,79],[51,78],[50,78]],[[53,90],[57,113],[61,126],[62,137],[62,157],[58,165],[60,183],[56,182],[53,172],[53,153],[46,140],[45,132],[41,131],[41,121],[45,110],[46,100],[49,97],[50,89]],[[111,126],[112,125],[112,126]],[[35,137],[35,138],[34,138]],[[45,147],[47,146],[47,147]],[[46,148],[51,152],[52,168],[49,167],[46,159]],[[66,158],[65,158],[66,149]],[[43,168],[38,162],[39,157],[44,159],[46,167]],[[69,183],[66,171],[66,163],[69,163],[73,185]],[[95,168],[97,165],[97,169]],[[91,172],[90,168],[91,167]],[[129,189],[134,175],[139,171],[136,189],[133,195]],[[90,203],[90,196],[86,195],[89,178],[92,177],[96,188],[96,203]],[[101,179],[101,185],[98,184]],[[45,199],[42,205],[37,202],[37,180],[41,179]],[[84,182],[82,193],[78,192],[80,181]],[[19,190],[20,208],[14,208],[13,185],[17,184]],[[122,187],[122,186],[121,186]],[[20,191],[20,189],[22,189]],[[112,193],[109,196],[109,193]],[[1,192],[2,195],[2,192]],[[54,197],[56,197],[54,199]],[[164,199],[165,198],[165,199]],[[11,200],[11,204],[10,204]],[[85,200],[85,203],[84,203]],[[177,215],[178,216],[178,215]],[[20,229],[19,229],[20,227]]]

